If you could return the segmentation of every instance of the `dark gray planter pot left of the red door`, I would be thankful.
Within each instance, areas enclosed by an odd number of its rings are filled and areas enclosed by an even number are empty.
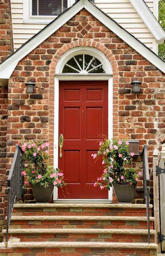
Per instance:
[[[54,185],[50,184],[48,187],[39,185],[32,186],[33,195],[37,203],[48,203],[53,194]]]

